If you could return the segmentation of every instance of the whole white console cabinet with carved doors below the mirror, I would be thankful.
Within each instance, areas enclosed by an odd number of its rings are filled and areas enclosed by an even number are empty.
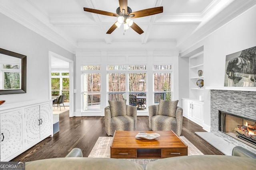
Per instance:
[[[0,134],[1,162],[12,160],[53,135],[52,100],[2,105]]]

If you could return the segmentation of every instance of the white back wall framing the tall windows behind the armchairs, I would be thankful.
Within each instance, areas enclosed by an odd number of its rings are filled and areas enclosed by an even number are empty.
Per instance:
[[[101,65],[101,111],[82,113],[82,65],[100,64]],[[147,79],[148,82],[153,82],[153,64],[173,64],[173,80],[174,80],[174,94],[173,100],[179,100],[179,73],[178,73],[178,51],[94,51],[94,52],[76,52],[76,109],[75,115],[104,115],[104,107],[108,105],[107,99],[107,84],[106,84],[106,66],[107,64],[146,64],[148,68]],[[147,105],[153,104],[153,83],[148,83],[148,97]],[[182,106],[182,102],[179,102]],[[138,112],[137,115],[148,115],[148,112]]]

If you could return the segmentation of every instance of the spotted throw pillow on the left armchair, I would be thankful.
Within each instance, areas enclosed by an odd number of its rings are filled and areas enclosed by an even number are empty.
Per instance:
[[[111,101],[108,100],[110,106],[111,117],[126,115],[126,100]]]

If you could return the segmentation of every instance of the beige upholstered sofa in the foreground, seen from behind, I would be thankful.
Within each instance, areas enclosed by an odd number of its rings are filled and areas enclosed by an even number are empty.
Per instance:
[[[75,157],[72,157],[75,156]],[[26,170],[252,170],[256,154],[235,147],[233,156],[195,155],[159,159],[140,165],[114,158],[83,158],[80,149],[73,149],[66,158],[51,158],[26,162]]]

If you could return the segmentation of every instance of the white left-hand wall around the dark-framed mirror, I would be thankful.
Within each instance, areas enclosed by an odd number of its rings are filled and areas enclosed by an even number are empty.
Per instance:
[[[74,54],[0,14],[0,48],[27,56],[27,86],[25,94],[0,95],[5,104],[49,99],[48,51],[74,61]]]

